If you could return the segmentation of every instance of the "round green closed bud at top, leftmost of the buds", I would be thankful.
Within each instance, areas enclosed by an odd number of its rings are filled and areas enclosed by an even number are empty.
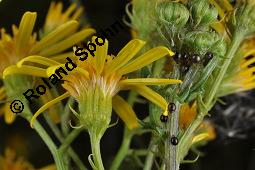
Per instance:
[[[159,20],[177,30],[183,28],[189,19],[188,9],[180,3],[164,1],[157,5],[156,12]]]

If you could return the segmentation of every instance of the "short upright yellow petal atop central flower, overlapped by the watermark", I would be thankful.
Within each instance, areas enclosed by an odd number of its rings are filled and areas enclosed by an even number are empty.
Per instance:
[[[99,40],[100,41],[100,40]],[[107,39],[104,40],[105,43],[102,46],[97,45],[97,49],[96,49],[96,69],[97,69],[97,73],[101,74],[104,68],[104,63],[105,63],[105,59],[107,56],[107,52],[108,52],[108,41]],[[95,37],[93,37],[93,42],[95,42]]]

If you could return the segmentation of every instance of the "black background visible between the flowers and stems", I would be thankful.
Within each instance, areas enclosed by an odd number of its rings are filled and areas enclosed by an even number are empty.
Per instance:
[[[148,0],[149,1],[149,0]],[[62,1],[67,7],[70,1]],[[86,17],[92,27],[97,30],[109,27],[116,21],[121,21],[125,14],[125,0],[84,0]],[[37,22],[35,31],[43,26],[50,0],[2,0],[0,2],[0,28],[4,27],[8,32],[12,24],[18,25],[25,11],[36,11]],[[129,40],[131,36],[128,28],[119,32],[110,39],[110,52],[116,54]],[[114,48],[113,48],[114,47]],[[252,94],[253,95],[253,94]],[[254,95],[253,95],[254,96]],[[231,98],[228,97],[228,98]],[[227,104],[229,101],[226,98]],[[254,99],[250,105],[254,105]],[[139,113],[145,112],[146,106],[142,104],[135,105],[135,110]],[[221,111],[221,110],[220,110]],[[217,113],[220,112],[218,110]],[[216,115],[217,117],[217,115]],[[221,120],[221,116],[219,116]],[[112,121],[115,121],[116,116]],[[224,126],[218,119],[216,127]],[[242,122],[245,124],[246,122]],[[253,123],[253,125],[255,122]],[[250,126],[249,126],[250,127]],[[119,123],[117,126],[108,129],[106,132],[101,148],[103,160],[106,168],[111,159],[116,154],[122,138],[123,126]],[[250,127],[249,131],[243,131],[244,137],[229,137],[217,128],[218,138],[200,150],[203,156],[194,164],[185,164],[181,166],[182,170],[254,170],[255,169],[255,137],[254,128]],[[225,131],[224,131],[225,132]],[[147,146],[149,136],[135,137],[132,147],[143,148]],[[73,148],[80,155],[82,160],[87,163],[87,157],[90,154],[89,138],[86,133],[82,133],[73,143]],[[27,159],[37,168],[53,162],[52,157],[40,140],[37,134],[30,128],[29,124],[21,119],[12,125],[6,125],[3,118],[0,118],[0,153],[3,154],[4,148],[10,147],[16,149],[18,153],[27,157]],[[192,156],[191,156],[192,157]],[[132,159],[126,159],[121,169],[132,169],[130,164]]]

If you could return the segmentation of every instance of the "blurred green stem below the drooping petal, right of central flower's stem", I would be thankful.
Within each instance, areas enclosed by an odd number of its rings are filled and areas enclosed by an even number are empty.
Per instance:
[[[133,137],[132,131],[128,130],[128,128],[125,126],[124,136],[123,136],[123,140],[122,140],[120,149],[111,164],[110,170],[118,170],[119,169],[122,161],[125,159],[126,155],[128,154],[132,137]]]

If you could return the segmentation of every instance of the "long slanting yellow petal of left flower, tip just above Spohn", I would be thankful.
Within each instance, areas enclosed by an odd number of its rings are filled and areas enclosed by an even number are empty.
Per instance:
[[[69,38],[66,38],[65,40],[41,51],[39,54],[42,56],[49,56],[54,55],[59,52],[62,52],[66,50],[67,48],[70,48],[71,46],[75,45],[76,43],[84,40],[88,36],[95,33],[94,29],[86,28],[78,33],[75,33],[74,35],[70,36]]]

